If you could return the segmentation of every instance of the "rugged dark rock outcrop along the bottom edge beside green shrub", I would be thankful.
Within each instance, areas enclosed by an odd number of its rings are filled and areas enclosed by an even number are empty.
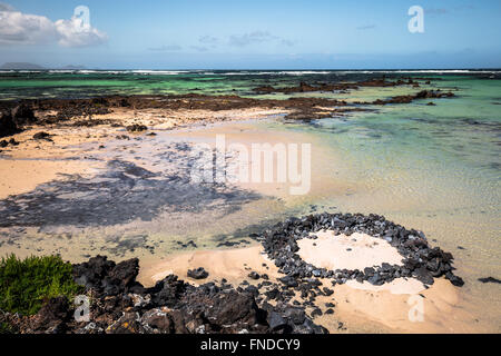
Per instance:
[[[75,306],[66,297],[49,299],[35,316],[7,315],[2,320],[29,334],[327,333],[303,308],[258,306],[250,289],[224,283],[196,287],[169,275],[145,288],[136,281],[138,268],[137,259],[115,264],[105,256],[73,265],[75,280],[92,297],[88,322],[72,318]]]

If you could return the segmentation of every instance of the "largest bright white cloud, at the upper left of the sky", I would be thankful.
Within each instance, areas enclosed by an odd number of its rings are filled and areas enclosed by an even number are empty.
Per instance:
[[[52,22],[45,16],[27,14],[0,2],[0,44],[41,44],[57,41],[63,47],[104,43],[108,36],[79,17]]]

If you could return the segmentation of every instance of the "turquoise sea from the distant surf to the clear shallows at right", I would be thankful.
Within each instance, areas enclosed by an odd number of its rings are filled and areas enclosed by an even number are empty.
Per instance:
[[[455,98],[369,107],[370,111],[310,122],[271,120],[249,123],[276,135],[304,136],[322,146],[313,175],[322,175],[315,194],[292,205],[258,205],[214,226],[245,227],[289,214],[333,211],[380,214],[424,231],[432,244],[453,253],[464,277],[464,298],[478,315],[501,325],[498,285],[480,277],[501,277],[501,71],[4,71],[0,100],[81,98],[102,95],[199,92],[256,98],[253,88],[296,86],[299,81],[356,81],[385,75],[411,77],[422,88],[361,88],[350,92],[308,92],[347,101],[372,101],[424,89],[452,90]],[[431,83],[425,81],[431,79]],[[426,105],[433,101],[435,106]],[[187,134],[189,135],[189,134]],[[325,152],[327,152],[325,155]],[[317,169],[317,170],[316,170]],[[341,186],[343,189],[327,189]],[[325,187],[325,188],[324,188]],[[320,191],[320,192],[318,192]],[[269,209],[275,209],[271,211]],[[264,216],[266,215],[266,216]],[[235,221],[235,219],[239,221]],[[195,225],[194,225],[195,226]],[[197,226],[202,235],[213,226]],[[498,289],[497,289],[498,288]],[[499,329],[498,329],[499,332]]]

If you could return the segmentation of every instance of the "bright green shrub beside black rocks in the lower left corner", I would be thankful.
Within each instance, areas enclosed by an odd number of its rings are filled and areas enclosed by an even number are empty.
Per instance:
[[[67,296],[70,300],[82,290],[73,281],[71,264],[59,256],[14,255],[0,261],[0,309],[23,315],[36,314],[45,299]]]

